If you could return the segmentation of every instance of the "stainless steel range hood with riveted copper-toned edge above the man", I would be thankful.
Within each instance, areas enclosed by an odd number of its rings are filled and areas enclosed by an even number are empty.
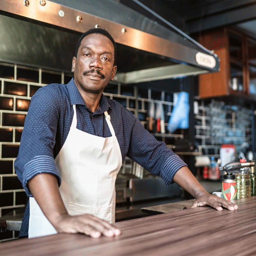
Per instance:
[[[113,0],[1,0],[0,61],[70,71],[79,35],[94,27],[117,43],[116,81],[219,71],[216,54]]]

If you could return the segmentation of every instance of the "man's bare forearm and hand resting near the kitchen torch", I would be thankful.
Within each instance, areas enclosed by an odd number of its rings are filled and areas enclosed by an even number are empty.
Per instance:
[[[222,199],[219,196],[209,194],[186,166],[181,167],[178,172],[175,173],[173,181],[196,198],[196,201],[190,208],[208,204],[218,211],[222,211],[222,207],[225,207],[230,211],[238,209],[236,204]]]

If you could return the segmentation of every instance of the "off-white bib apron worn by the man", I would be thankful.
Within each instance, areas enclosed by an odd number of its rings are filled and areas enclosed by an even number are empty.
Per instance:
[[[61,177],[60,194],[70,215],[89,213],[115,222],[116,175],[121,150],[110,116],[104,112],[112,137],[102,138],[76,129],[76,105],[68,137],[55,158]],[[28,237],[56,234],[34,197],[29,198]]]

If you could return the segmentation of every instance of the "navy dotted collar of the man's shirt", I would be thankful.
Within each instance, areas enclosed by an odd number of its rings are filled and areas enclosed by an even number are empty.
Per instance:
[[[67,84],[67,89],[68,89],[68,94],[70,97],[70,104],[74,105],[74,104],[80,104],[80,105],[84,105],[85,109],[87,109],[88,111],[90,111],[90,109],[86,106],[80,92],[78,91],[74,78],[72,78],[70,80],[70,82]],[[108,103],[108,99],[107,97],[105,97],[103,94],[100,97],[100,107],[94,112],[94,114],[102,114],[105,111],[108,111],[108,109],[111,108],[109,103]]]

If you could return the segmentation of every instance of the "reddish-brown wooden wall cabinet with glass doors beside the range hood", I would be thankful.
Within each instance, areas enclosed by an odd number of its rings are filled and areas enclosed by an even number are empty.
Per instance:
[[[242,32],[219,28],[202,33],[199,43],[220,58],[220,72],[199,75],[199,96],[256,101],[256,41]]]

